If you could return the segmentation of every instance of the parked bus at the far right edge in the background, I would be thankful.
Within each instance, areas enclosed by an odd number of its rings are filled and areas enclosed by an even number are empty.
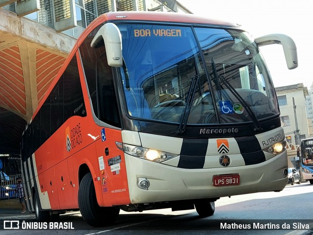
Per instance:
[[[313,138],[301,140],[297,155],[300,159],[300,178],[313,184]]]

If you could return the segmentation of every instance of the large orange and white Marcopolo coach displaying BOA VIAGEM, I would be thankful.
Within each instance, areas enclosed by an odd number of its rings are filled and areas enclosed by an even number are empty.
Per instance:
[[[237,24],[189,14],[111,12],[70,52],[22,137],[26,205],[40,220],[81,211],[214,213],[220,197],[281,191],[287,153],[275,89]]]

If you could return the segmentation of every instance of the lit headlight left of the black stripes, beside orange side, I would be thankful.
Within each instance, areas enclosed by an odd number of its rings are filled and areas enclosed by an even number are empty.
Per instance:
[[[116,142],[117,148],[123,150],[125,153],[132,155],[134,157],[140,157],[153,162],[164,162],[174,157],[177,157],[177,154],[159,151],[159,150],[151,150],[147,148],[143,148],[141,146],[128,145],[120,142]]]

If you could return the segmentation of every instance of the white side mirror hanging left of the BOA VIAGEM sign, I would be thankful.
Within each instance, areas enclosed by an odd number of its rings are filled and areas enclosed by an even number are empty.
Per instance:
[[[106,47],[108,64],[113,67],[122,67],[122,36],[115,24],[104,24],[94,36],[90,46],[97,47],[103,42]]]

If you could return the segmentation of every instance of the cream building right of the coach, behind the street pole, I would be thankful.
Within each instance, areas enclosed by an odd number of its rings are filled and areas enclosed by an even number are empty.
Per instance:
[[[301,139],[310,137],[305,97],[308,88],[303,84],[275,87],[280,119],[288,142],[300,144]],[[312,122],[311,127],[312,127]],[[297,134],[299,139],[297,139]]]

